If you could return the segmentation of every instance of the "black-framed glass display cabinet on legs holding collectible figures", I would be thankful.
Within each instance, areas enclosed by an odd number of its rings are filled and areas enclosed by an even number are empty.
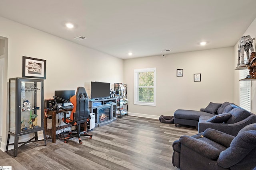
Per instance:
[[[9,132],[6,151],[9,145],[14,145],[14,157],[18,154],[18,147],[28,142],[38,140],[38,131],[44,132],[44,80],[31,78],[9,79]],[[34,133],[32,139],[19,142],[19,137]],[[10,135],[14,136],[14,143],[9,144]],[[34,139],[34,140],[33,140]],[[18,144],[22,144],[18,146]]]

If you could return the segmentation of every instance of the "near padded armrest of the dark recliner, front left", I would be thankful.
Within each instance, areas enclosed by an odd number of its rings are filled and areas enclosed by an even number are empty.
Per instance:
[[[185,145],[186,147],[193,150],[194,152],[197,152],[202,156],[212,160],[217,160],[221,152],[220,150],[213,147],[209,143],[202,141],[200,139],[195,139],[187,135],[180,137],[180,143],[181,143],[181,150],[182,150],[182,145]]]

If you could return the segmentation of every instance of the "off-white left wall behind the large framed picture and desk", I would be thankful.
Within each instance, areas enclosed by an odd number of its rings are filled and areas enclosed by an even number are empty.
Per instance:
[[[110,82],[112,88],[115,82],[123,82],[124,72],[118,69],[124,65],[122,59],[2,17],[0,25],[0,36],[8,38],[7,78],[22,77],[22,56],[46,60],[45,99],[52,98],[54,90],[76,90],[78,86],[86,87],[90,94],[91,81]],[[8,117],[2,121],[7,122]]]

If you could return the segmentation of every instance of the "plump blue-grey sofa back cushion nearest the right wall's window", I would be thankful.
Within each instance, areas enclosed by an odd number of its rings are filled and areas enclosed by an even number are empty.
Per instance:
[[[246,111],[240,107],[230,110],[229,113],[231,113],[232,116],[228,119],[228,121],[226,121],[226,123],[236,123],[251,115],[249,111]]]

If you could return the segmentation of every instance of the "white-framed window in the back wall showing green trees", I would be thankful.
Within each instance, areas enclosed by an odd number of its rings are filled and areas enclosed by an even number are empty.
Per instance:
[[[134,70],[134,104],[156,106],[156,68]]]

